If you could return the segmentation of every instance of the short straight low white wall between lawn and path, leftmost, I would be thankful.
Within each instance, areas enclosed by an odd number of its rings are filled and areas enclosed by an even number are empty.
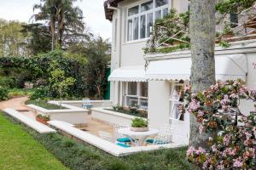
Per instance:
[[[20,122],[23,122],[28,127],[32,127],[38,133],[55,133],[56,132],[55,129],[50,128],[42,124],[41,122],[34,121],[31,118],[22,115],[22,113],[20,113],[19,111],[15,111],[13,109],[4,109],[3,111],[5,111],[9,116],[13,116],[15,117],[15,119],[19,120]]]

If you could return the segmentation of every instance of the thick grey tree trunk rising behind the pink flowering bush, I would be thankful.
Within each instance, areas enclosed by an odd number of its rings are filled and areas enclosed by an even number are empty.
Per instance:
[[[191,0],[189,31],[191,37],[191,88],[202,92],[215,83],[215,0]],[[200,135],[195,116],[190,115],[189,146],[206,145],[206,135]]]

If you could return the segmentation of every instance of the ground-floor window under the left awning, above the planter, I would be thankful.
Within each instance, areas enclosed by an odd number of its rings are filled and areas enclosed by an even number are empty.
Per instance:
[[[148,108],[148,82],[126,82],[125,105]]]

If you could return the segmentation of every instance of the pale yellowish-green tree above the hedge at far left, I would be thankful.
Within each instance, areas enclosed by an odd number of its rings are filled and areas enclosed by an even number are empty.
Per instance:
[[[0,56],[29,56],[27,37],[22,35],[22,23],[0,19]]]

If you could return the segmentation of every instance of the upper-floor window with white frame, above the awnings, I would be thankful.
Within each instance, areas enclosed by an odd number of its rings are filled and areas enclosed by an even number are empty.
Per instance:
[[[169,0],[151,0],[128,8],[127,41],[150,37],[154,20],[168,14]]]

